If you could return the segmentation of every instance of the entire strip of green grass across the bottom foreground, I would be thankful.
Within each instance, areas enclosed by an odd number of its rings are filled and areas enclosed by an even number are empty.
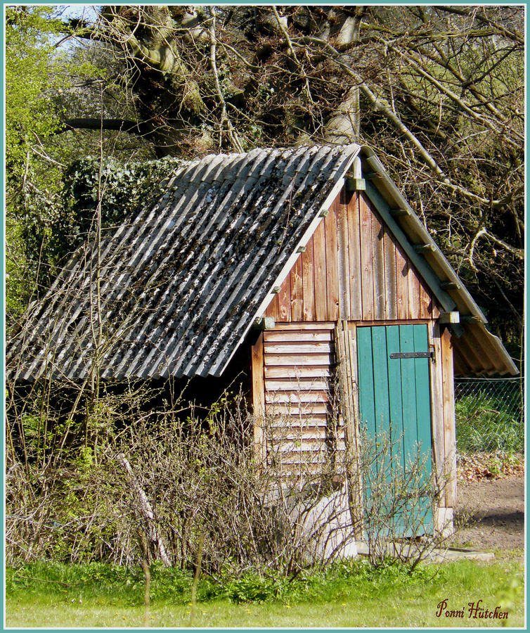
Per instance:
[[[46,581],[46,582],[45,582]],[[222,584],[202,580],[195,615],[190,575],[155,567],[151,627],[469,627],[492,620],[437,618],[437,605],[508,609],[508,626],[524,625],[522,562],[472,561],[373,570],[360,561],[292,581],[248,575]],[[26,565],[6,573],[8,627],[141,627],[145,586],[139,569],[108,565]],[[254,601],[241,602],[255,594]],[[222,597],[224,596],[224,597]]]

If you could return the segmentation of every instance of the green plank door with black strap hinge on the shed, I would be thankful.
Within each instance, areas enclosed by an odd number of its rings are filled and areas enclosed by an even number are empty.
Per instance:
[[[425,324],[357,328],[360,421],[377,454],[364,483],[366,507],[394,513],[387,520],[398,536],[432,530],[425,492],[432,471],[428,353]],[[380,495],[384,490],[377,501],[376,486]]]

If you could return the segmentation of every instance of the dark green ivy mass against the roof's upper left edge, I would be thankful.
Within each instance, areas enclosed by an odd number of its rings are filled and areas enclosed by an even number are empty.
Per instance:
[[[176,158],[141,162],[108,158],[100,174],[98,158],[80,158],[61,174],[63,184],[52,200],[28,196],[24,214],[12,222],[9,231],[11,246],[18,251],[19,260],[23,255],[26,270],[22,274],[20,264],[14,262],[8,266],[8,312],[18,314],[25,307],[28,279],[37,282],[34,288],[41,295],[58,267],[91,236],[98,200],[103,229],[114,230],[138,207],[153,200],[160,181],[180,163]]]

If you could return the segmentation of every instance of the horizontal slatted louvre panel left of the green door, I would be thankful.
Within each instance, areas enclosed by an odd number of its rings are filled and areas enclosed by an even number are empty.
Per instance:
[[[344,426],[333,411],[334,326],[285,324],[264,332],[266,456],[284,472],[340,469]]]

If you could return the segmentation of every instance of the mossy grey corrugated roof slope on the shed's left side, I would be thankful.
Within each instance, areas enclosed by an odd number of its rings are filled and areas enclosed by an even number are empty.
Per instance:
[[[154,207],[105,239],[99,275],[93,245],[77,253],[13,340],[10,373],[83,379],[97,349],[102,378],[219,376],[358,151],[186,163]]]

